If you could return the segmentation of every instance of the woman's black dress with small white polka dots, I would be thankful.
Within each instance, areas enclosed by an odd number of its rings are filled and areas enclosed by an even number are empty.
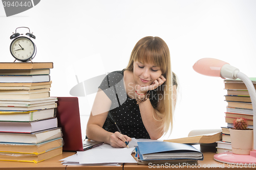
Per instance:
[[[126,94],[123,81],[123,71],[114,71],[108,74],[100,84],[102,89],[112,101],[111,109],[106,117],[103,129],[115,133],[119,127],[122,134],[134,138],[150,139],[140,115],[139,105],[135,99]],[[151,91],[152,106],[157,105],[156,91]]]

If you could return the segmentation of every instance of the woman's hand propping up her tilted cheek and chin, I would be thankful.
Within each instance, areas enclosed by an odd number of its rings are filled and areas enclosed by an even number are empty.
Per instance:
[[[139,94],[144,94],[148,90],[154,90],[158,86],[161,86],[165,81],[166,81],[166,79],[163,77],[163,75],[161,75],[159,78],[157,78],[155,81],[153,81],[153,83],[151,85],[149,85],[149,86],[137,85],[136,89]]]

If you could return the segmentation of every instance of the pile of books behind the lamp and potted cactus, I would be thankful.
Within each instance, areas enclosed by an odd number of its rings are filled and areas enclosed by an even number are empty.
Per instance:
[[[254,88],[256,88],[256,78],[250,78]],[[227,126],[222,127],[222,142],[218,142],[217,152],[231,151],[231,139],[229,128],[233,127],[233,120],[239,117],[247,119],[248,128],[253,128],[252,104],[248,90],[240,79],[224,80],[225,101],[227,102],[225,121]]]

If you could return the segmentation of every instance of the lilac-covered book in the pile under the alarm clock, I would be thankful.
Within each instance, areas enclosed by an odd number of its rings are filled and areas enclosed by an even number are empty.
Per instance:
[[[56,117],[35,122],[0,122],[0,132],[10,133],[33,133],[57,127]]]

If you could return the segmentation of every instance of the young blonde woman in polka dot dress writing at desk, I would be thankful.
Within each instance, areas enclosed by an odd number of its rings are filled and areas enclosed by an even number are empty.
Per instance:
[[[126,69],[111,72],[99,86],[87,137],[112,147],[126,147],[131,137],[160,138],[173,128],[176,88],[167,44],[140,39]]]

